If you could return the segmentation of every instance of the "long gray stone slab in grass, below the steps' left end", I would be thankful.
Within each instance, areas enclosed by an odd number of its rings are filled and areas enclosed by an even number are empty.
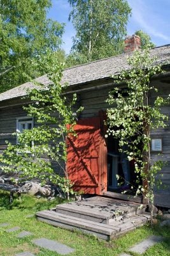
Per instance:
[[[34,243],[42,248],[48,249],[50,251],[60,253],[62,255],[74,252],[73,248],[66,246],[65,244],[61,244],[59,242],[56,242],[56,241],[53,241],[50,239],[46,239],[46,238],[34,239],[34,240],[32,240],[32,243]]]

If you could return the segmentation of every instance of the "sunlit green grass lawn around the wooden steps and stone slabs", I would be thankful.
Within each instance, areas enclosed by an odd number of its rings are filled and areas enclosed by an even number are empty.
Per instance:
[[[13,204],[9,204],[9,195],[0,191],[0,223],[8,222],[10,226],[0,227],[0,255],[11,256],[15,253],[29,251],[38,256],[59,255],[34,246],[31,240],[46,237],[67,244],[75,249],[71,256],[116,256],[120,253],[129,253],[128,249],[150,235],[164,237],[164,242],[152,246],[143,256],[169,256],[170,255],[170,228],[155,226],[141,227],[133,232],[110,242],[101,241],[94,236],[85,236],[81,232],[71,232],[62,228],[52,227],[46,223],[37,221],[34,214],[41,209],[50,209],[60,204],[56,199],[48,202],[46,199],[37,199],[32,196],[22,195],[22,199],[15,198]],[[33,216],[29,216],[32,215]],[[7,228],[20,227],[16,232],[6,232]],[[32,236],[17,238],[16,235],[27,230]],[[131,253],[129,253],[131,254]],[[131,254],[137,255],[137,254]]]

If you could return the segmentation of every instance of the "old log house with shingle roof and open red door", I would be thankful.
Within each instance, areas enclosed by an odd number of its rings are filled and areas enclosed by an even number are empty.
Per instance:
[[[129,41],[130,40],[130,41]],[[138,45],[138,36],[127,40],[127,51]],[[137,41],[136,41],[137,40]],[[130,49],[129,49],[130,48]],[[153,77],[151,83],[157,86],[161,96],[170,94],[170,45],[155,47],[150,51],[152,56],[157,56],[157,61],[164,65],[166,72],[160,76]],[[78,136],[68,141],[69,178],[74,181],[76,189],[84,193],[97,195],[112,195],[122,198],[118,193],[116,174],[122,172],[119,160],[117,141],[114,138],[104,139],[104,116],[108,108],[105,100],[108,92],[114,86],[111,75],[118,74],[122,69],[128,69],[127,56],[125,52],[119,56],[93,61],[91,63],[66,68],[63,72],[62,83],[67,82],[69,88],[67,95],[77,93],[78,104],[84,107],[75,130]],[[48,78],[39,77],[37,81],[47,84]],[[31,129],[36,127],[33,118],[27,116],[23,106],[28,101],[22,97],[27,94],[27,89],[34,87],[32,83],[25,83],[17,88],[8,90],[0,95],[0,150],[3,153],[6,148],[5,141],[16,143],[17,139],[12,136],[16,129]],[[150,95],[152,104],[155,95]],[[162,108],[169,115],[170,106]],[[169,121],[170,124],[170,121]],[[152,131],[152,158],[157,159],[161,152],[161,159],[167,161],[162,169],[162,183],[166,189],[155,191],[155,204],[162,207],[170,207],[170,127]],[[134,171],[131,168],[131,177]],[[120,192],[120,191],[119,191]]]

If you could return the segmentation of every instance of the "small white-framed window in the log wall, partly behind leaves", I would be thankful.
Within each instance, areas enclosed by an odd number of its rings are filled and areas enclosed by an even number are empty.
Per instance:
[[[25,116],[17,118],[17,143],[19,133],[22,133],[24,130],[31,130],[33,128],[33,124],[32,117]]]

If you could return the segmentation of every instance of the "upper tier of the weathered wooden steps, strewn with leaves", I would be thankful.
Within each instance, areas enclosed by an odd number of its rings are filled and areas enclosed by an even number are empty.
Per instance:
[[[145,205],[139,208],[140,204],[129,202],[127,204],[127,202],[121,200],[113,200],[113,202],[107,200],[107,198],[99,198],[99,200],[99,204],[97,204],[97,200],[92,202],[91,199],[83,202],[60,204],[57,205],[55,211],[60,214],[105,224],[124,220],[130,216],[145,212]]]

